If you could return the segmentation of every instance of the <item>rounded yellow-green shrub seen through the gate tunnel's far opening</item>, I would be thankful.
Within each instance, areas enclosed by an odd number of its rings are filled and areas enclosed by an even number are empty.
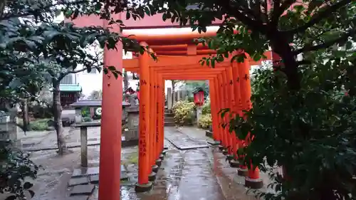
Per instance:
[[[194,120],[194,108],[194,102],[175,102],[172,107],[174,121],[179,125],[192,125]]]

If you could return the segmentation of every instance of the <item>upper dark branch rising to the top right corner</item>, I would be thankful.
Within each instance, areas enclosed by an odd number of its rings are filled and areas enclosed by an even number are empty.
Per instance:
[[[352,0],[341,0],[337,2],[336,4],[333,4],[331,6],[325,6],[324,11],[318,11],[315,15],[311,17],[311,19],[307,22],[304,23],[303,26],[299,26],[297,28],[293,28],[287,31],[281,31],[281,33],[288,33],[288,34],[295,34],[299,32],[303,32],[310,28],[311,26],[314,26],[316,23],[319,23],[326,17],[328,17],[330,14],[334,13],[338,9],[340,9],[343,6],[346,6],[347,4],[350,4]]]

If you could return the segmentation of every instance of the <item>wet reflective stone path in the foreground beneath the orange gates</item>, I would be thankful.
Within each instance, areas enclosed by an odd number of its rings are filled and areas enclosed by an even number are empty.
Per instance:
[[[208,157],[211,149],[170,149],[157,174],[152,191],[135,193],[133,185],[122,186],[122,200],[224,200]],[[97,199],[96,195],[91,199]]]

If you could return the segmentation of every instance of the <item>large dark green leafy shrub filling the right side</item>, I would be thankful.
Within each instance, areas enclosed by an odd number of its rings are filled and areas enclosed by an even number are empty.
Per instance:
[[[298,91],[283,73],[256,70],[252,109],[230,122],[240,139],[253,135],[240,161],[271,176],[263,198],[355,199],[356,95],[345,95],[355,88],[355,65],[325,60],[301,70]]]

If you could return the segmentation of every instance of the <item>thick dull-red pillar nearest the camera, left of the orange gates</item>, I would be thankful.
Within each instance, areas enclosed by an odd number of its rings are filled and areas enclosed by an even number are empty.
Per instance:
[[[105,49],[104,65],[122,70],[122,45]],[[103,73],[102,121],[100,128],[100,200],[120,199],[122,77]]]

